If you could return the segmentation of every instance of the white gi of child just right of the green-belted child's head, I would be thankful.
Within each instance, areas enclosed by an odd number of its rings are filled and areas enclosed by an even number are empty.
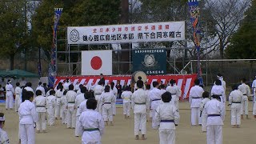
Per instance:
[[[102,117],[105,122],[113,122],[113,106],[115,102],[115,95],[112,92],[102,93]]]

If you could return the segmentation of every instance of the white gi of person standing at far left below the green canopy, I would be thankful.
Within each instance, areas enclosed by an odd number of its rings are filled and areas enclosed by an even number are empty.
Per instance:
[[[6,110],[14,107],[14,86],[10,83],[6,84]]]

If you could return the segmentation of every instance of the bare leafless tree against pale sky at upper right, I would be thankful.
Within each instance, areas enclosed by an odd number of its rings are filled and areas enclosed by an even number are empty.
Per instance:
[[[230,42],[230,37],[238,30],[239,23],[244,18],[244,12],[250,7],[251,0],[206,0],[206,9],[214,20],[216,38],[220,57],[224,58],[224,50]]]

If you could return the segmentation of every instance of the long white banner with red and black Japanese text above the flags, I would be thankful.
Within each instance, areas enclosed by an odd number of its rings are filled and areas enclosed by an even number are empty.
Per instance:
[[[170,42],[185,40],[185,22],[67,27],[68,44]]]

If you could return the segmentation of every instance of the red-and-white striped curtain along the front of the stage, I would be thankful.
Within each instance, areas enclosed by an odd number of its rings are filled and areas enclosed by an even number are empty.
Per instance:
[[[92,82],[94,85],[98,83],[100,80],[100,76],[70,76],[70,77],[56,77],[55,86],[58,82],[63,82],[66,78],[70,78],[71,82],[80,84],[84,84],[87,82],[87,85],[90,86]],[[105,82],[114,82],[116,83],[118,80],[120,84],[123,86],[124,82],[130,85],[131,76],[130,75],[117,75],[117,76],[104,76]],[[197,74],[186,74],[186,75],[149,75],[147,76],[148,84],[152,85],[154,81],[162,81],[167,84],[170,79],[176,80],[177,86],[179,86],[182,90],[181,99],[186,99],[189,96],[190,88],[194,86],[194,79],[197,78]]]

